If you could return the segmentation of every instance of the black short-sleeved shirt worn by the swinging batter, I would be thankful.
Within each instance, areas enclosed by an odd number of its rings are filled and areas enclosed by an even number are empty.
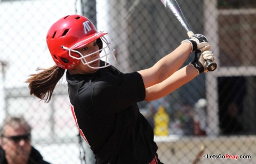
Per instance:
[[[157,145],[137,102],[145,99],[138,72],[122,73],[109,66],[92,75],[70,75],[71,110],[97,163],[149,163]]]

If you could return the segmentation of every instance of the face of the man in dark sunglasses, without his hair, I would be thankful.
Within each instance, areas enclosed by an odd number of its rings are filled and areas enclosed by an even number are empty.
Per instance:
[[[31,151],[29,129],[25,126],[13,128],[6,126],[1,145],[7,160],[13,163],[24,163],[28,160]]]

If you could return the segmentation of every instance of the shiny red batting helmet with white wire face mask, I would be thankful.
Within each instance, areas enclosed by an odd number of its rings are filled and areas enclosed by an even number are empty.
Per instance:
[[[114,49],[104,35],[106,32],[98,32],[93,23],[81,15],[68,15],[55,22],[49,29],[46,37],[47,46],[54,62],[63,69],[72,69],[80,61],[84,65],[93,69],[105,68],[108,55],[115,61]],[[97,40],[99,50],[91,54],[82,55],[77,49]],[[105,43],[103,47],[103,42]],[[87,62],[85,58],[95,53],[100,53],[100,57]],[[105,61],[100,67],[91,67],[90,63],[97,60]]]

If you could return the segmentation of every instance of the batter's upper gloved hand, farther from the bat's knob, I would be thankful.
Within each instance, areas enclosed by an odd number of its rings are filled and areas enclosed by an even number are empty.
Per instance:
[[[210,50],[211,47],[207,38],[202,34],[195,34],[191,36],[189,39],[183,40],[181,43],[190,43],[191,44],[191,52],[196,50],[201,50],[202,52],[205,50]]]

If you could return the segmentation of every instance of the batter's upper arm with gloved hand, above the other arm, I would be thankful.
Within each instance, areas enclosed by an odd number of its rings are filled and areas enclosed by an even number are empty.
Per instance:
[[[181,67],[191,52],[198,49],[204,51],[205,47],[209,47],[210,49],[210,44],[207,38],[200,34],[183,40],[180,46],[170,54],[164,56],[153,67],[138,71],[143,78],[145,87],[147,88],[161,83]]]

